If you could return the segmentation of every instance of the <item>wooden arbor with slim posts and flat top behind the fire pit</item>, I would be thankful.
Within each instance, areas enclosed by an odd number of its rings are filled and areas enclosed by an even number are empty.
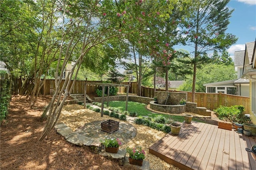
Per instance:
[[[101,99],[101,117],[103,117],[103,108],[104,108],[104,97],[105,97],[105,87],[108,87],[108,98],[107,98],[107,106],[108,106],[108,99],[109,99],[109,87],[127,87],[126,88],[126,105],[125,110],[127,111],[127,105],[128,105],[128,93],[129,93],[129,87],[130,85],[121,85],[121,84],[112,84],[112,83],[85,83],[84,87],[84,109],[86,108],[86,86],[87,85],[97,85],[102,87],[102,99]]]

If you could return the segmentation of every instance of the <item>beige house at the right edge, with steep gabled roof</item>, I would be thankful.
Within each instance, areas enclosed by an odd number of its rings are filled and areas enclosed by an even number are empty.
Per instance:
[[[250,81],[250,118],[256,125],[256,39],[255,42],[246,43],[243,75],[241,78]]]

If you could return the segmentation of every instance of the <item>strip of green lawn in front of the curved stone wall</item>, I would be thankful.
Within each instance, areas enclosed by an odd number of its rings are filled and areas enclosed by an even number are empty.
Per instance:
[[[109,107],[115,107],[115,108],[120,109],[121,111],[125,111],[125,103],[126,103],[126,101],[110,101],[109,102]],[[106,104],[106,103],[104,103],[104,104]],[[128,101],[127,110],[129,112],[138,113],[138,117],[148,116],[148,117],[154,119],[158,115],[162,115],[162,116],[166,117],[166,119],[172,119],[173,121],[178,121],[178,122],[183,122],[184,121],[184,117],[182,117],[182,116],[172,116],[172,115],[154,113],[154,112],[149,111],[148,109],[146,109],[145,104],[138,103],[138,102],[133,102],[133,101]]]

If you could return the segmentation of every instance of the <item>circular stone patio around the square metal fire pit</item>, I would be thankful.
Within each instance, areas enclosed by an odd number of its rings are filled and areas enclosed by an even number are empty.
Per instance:
[[[136,128],[129,123],[120,121],[119,129],[110,134],[101,130],[102,122],[104,121],[93,121],[86,123],[84,126],[77,128],[75,132],[89,138],[98,138],[101,142],[104,142],[106,138],[119,138],[123,144],[128,143],[136,136]]]

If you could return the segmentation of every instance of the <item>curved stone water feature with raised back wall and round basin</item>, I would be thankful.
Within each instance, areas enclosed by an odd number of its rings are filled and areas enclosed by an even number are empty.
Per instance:
[[[169,91],[155,91],[157,101],[150,101],[150,109],[165,113],[185,113],[186,105],[180,105],[180,100],[187,101],[188,93],[184,92],[169,92]]]

